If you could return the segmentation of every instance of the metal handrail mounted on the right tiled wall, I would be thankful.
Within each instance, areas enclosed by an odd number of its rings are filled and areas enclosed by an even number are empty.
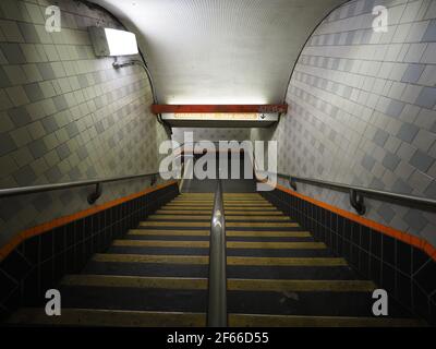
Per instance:
[[[258,171],[257,172],[267,172]],[[383,201],[392,202],[399,205],[421,207],[427,210],[436,210],[436,200],[427,198],[423,196],[414,196],[408,194],[392,193],[383,190],[370,189],[358,185],[342,184],[337,182],[324,181],[319,179],[290,176],[283,173],[274,173],[278,178],[282,178],[289,181],[291,188],[296,191],[296,183],[307,183],[311,185],[323,186],[328,189],[334,189],[341,192],[347,192],[350,194],[350,203],[354,209],[363,215],[365,214],[364,197],[378,198]]]

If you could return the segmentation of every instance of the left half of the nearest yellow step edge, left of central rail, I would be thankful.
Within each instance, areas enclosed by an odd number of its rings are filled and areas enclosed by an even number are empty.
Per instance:
[[[62,309],[61,316],[47,316],[44,309],[19,310],[9,324],[116,327],[199,327],[206,314],[189,312],[123,311],[104,309]]]

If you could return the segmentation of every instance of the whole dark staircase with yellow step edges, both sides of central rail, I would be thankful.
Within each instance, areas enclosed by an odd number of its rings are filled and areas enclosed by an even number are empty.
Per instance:
[[[11,324],[204,326],[211,193],[175,197],[63,278],[62,315],[21,309]],[[257,193],[225,193],[230,326],[412,326],[392,300],[372,315],[376,286]]]

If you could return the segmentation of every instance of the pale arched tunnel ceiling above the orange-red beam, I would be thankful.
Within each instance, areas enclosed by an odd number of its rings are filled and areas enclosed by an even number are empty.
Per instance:
[[[93,0],[135,32],[161,104],[276,104],[344,0]]]

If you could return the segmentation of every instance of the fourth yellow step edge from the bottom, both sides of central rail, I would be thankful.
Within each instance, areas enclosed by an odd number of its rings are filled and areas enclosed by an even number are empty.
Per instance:
[[[114,240],[113,246],[143,248],[192,248],[208,249],[209,241],[173,241],[173,240]],[[228,249],[272,249],[272,250],[324,250],[323,242],[245,242],[228,241]]]

